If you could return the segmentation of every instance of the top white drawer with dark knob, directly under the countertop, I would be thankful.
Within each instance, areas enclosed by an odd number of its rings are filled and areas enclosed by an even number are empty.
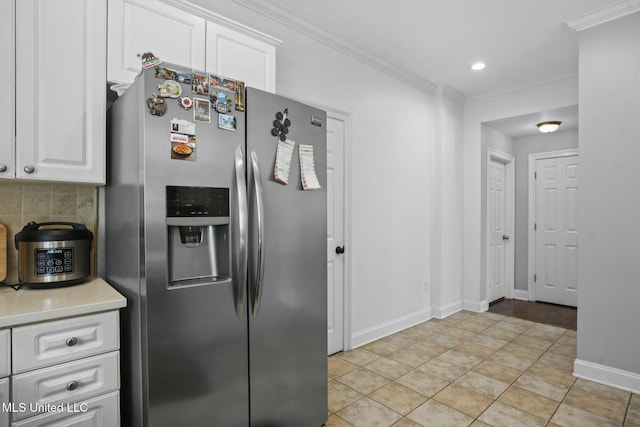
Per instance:
[[[73,317],[13,329],[13,373],[117,350],[118,312]]]

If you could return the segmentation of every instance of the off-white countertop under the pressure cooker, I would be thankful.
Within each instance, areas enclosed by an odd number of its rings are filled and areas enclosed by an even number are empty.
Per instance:
[[[0,328],[126,306],[127,299],[100,278],[62,288],[1,288]]]

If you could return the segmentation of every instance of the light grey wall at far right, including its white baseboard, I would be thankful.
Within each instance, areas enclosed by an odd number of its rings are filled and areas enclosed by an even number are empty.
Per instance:
[[[638,52],[639,12],[580,32],[575,372],[636,393],[640,392]]]

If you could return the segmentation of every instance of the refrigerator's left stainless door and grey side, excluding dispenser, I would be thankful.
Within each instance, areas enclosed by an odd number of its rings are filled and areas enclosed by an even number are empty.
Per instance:
[[[171,64],[162,66],[191,73]],[[166,200],[167,186],[228,188],[231,235],[224,226],[219,235],[225,241],[242,239],[234,223],[242,210],[238,200],[243,198],[237,194],[234,159],[237,147],[245,142],[244,114],[233,112],[236,131],[220,129],[214,120],[196,121],[193,110],[170,98],[165,100],[164,116],[151,115],[146,101],[163,82],[153,69],[145,70],[111,111],[106,271],[110,283],[129,300],[121,335],[123,425],[246,427],[247,312],[238,316],[242,295],[234,286],[236,279],[246,281],[242,274],[246,266],[235,266],[230,281],[169,286],[168,266],[177,257],[169,251]],[[190,85],[180,84],[183,93],[193,96]],[[195,159],[172,155],[174,119],[195,128]],[[242,170],[240,177],[242,181]],[[199,250],[182,246],[182,254]],[[228,252],[220,251],[231,270],[231,249]],[[184,269],[200,270],[200,265],[189,264],[196,264],[196,259],[199,264],[200,258],[180,258]]]

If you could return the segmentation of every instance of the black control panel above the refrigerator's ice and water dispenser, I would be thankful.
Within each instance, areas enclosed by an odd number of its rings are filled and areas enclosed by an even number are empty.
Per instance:
[[[229,216],[229,189],[167,186],[168,218]]]

